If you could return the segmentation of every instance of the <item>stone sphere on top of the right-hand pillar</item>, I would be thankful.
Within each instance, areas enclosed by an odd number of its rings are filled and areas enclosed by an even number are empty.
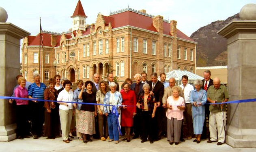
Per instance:
[[[243,6],[239,17],[241,20],[256,20],[256,4],[246,4]]]

